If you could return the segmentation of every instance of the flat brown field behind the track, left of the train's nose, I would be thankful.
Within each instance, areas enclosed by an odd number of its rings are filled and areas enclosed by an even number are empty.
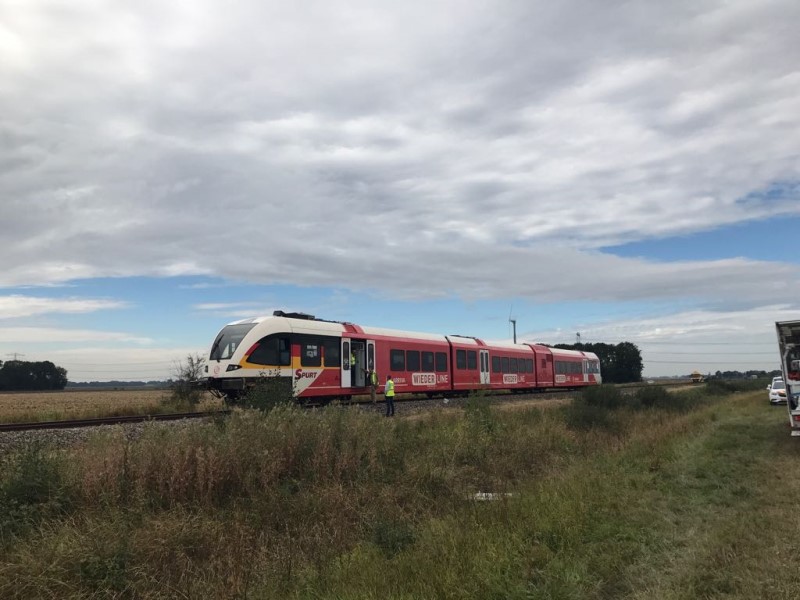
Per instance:
[[[0,394],[0,423],[58,421],[117,415],[212,410],[221,401],[207,394],[199,405],[170,402],[169,390],[79,390]]]

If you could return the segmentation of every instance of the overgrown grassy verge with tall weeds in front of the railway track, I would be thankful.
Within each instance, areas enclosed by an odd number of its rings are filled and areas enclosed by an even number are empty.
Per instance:
[[[762,396],[31,448],[0,479],[0,597],[794,598],[798,440]]]

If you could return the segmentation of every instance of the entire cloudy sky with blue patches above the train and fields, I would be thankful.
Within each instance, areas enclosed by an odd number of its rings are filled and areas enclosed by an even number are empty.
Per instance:
[[[779,367],[796,0],[0,0],[0,360],[174,377],[276,309]],[[515,326],[511,320],[515,321]]]

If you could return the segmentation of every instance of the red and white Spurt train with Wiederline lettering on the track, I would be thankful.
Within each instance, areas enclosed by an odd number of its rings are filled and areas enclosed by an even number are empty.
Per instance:
[[[222,328],[206,363],[209,388],[235,400],[263,376],[291,379],[299,399],[369,392],[368,372],[398,394],[462,395],[474,390],[535,391],[602,382],[591,352],[539,344],[362,327],[275,311]]]

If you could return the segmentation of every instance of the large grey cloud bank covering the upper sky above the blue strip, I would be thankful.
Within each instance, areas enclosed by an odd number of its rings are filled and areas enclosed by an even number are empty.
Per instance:
[[[758,302],[796,278],[593,250],[800,214],[788,0],[29,10],[0,67],[0,285],[390,269],[408,297]]]

